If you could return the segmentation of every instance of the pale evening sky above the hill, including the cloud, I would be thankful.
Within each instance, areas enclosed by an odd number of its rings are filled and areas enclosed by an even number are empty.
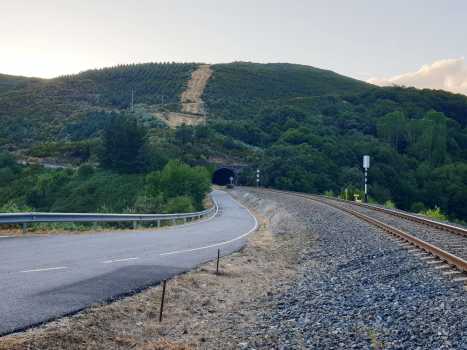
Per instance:
[[[289,62],[467,95],[465,0],[0,0],[0,73]]]

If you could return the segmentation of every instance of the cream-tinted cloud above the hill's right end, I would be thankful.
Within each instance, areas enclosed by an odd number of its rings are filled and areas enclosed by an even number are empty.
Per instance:
[[[467,95],[467,66],[464,60],[465,57],[436,61],[432,65],[423,65],[415,73],[397,75],[389,79],[371,78],[367,82],[379,86],[395,84],[419,89],[442,89]]]

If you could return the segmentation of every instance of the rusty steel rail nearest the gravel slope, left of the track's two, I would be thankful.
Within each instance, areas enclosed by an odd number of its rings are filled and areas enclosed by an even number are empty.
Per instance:
[[[256,187],[252,187],[252,189],[256,189]],[[339,209],[339,210],[342,210],[344,212],[347,212],[349,214],[352,214],[352,215],[355,215],[365,221],[368,221],[388,232],[391,232],[401,238],[403,238],[404,240],[416,245],[417,247],[431,253],[432,255],[434,255],[435,257],[439,258],[440,260],[443,260],[445,261],[447,264],[451,265],[451,266],[455,266],[457,269],[459,269],[460,271],[464,271],[464,272],[467,272],[467,261],[449,253],[449,252],[446,252],[445,250],[442,250],[434,245],[431,245],[425,241],[422,241],[421,239],[418,239],[412,235],[409,235],[408,233],[406,232],[403,232],[401,230],[398,230],[392,226],[389,226],[379,220],[376,220],[376,219],[373,219],[369,216],[366,216],[366,215],[363,215],[361,213],[358,213],[356,211],[353,211],[353,210],[350,210],[348,208],[344,208],[344,207],[341,207],[337,204],[333,204],[333,203],[329,203],[329,202],[326,202],[325,200],[323,200],[323,196],[317,196],[317,195],[309,195],[309,194],[303,194],[303,193],[297,193],[297,192],[288,192],[288,191],[280,191],[280,190],[272,190],[272,189],[259,189],[260,191],[267,191],[267,192],[275,192],[275,193],[280,193],[280,194],[287,194],[287,195],[292,195],[292,196],[296,196],[296,197],[302,197],[302,198],[305,198],[305,199],[308,199],[308,200],[312,200],[312,201],[316,201],[318,203],[321,203],[321,204],[325,204],[325,205],[328,205],[330,207],[333,207],[333,208],[336,208],[336,209]],[[320,197],[320,198],[316,198],[316,197]],[[328,199],[328,197],[325,197],[326,199]],[[349,202],[349,201],[347,201]],[[371,208],[373,209],[373,208]]]

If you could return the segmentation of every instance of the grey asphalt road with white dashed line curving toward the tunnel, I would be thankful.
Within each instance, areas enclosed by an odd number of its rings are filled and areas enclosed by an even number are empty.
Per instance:
[[[217,213],[170,229],[0,238],[0,335],[132,294],[240,249],[250,212],[213,191]]]

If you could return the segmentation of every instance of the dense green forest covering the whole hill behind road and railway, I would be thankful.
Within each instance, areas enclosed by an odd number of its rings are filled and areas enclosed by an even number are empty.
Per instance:
[[[122,211],[132,208],[144,191],[156,197],[146,188],[150,174],[162,172],[170,160],[211,175],[213,159],[250,165],[251,171],[240,175],[244,185],[254,184],[253,170],[259,168],[266,187],[328,195],[349,188],[357,193],[364,183],[362,157],[369,155],[372,201],[390,201],[413,212],[439,207],[452,221],[467,220],[467,96],[376,87],[307,66],[236,62],[211,66],[202,95],[206,125],[169,129],[154,111],[180,110],[181,92],[196,67],[119,66],[0,94],[0,150],[94,169],[84,180],[79,169],[2,168],[11,180],[1,185],[0,205],[13,200],[18,207],[72,210],[58,200],[71,192],[55,189],[58,197],[50,203],[34,193],[44,195],[43,176],[74,171],[60,175],[67,179],[63,183],[73,187],[90,181],[96,185],[89,191],[96,193],[104,186],[97,185],[100,177],[122,179],[122,188],[129,182],[125,177],[134,177],[138,190],[113,201],[114,209]],[[136,91],[134,110],[129,108],[130,90]],[[111,134],[117,134],[106,131],[112,120],[126,125],[125,134],[132,133],[140,143],[130,142],[128,152],[120,151],[126,154],[109,158],[103,149]],[[128,169],[125,160],[133,162]],[[191,205],[199,205],[191,198]],[[163,205],[169,200],[163,199]],[[74,210],[97,210],[105,204],[96,203]]]

